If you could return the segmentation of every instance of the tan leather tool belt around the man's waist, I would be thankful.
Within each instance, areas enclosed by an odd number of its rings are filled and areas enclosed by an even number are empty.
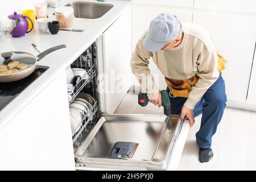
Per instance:
[[[218,51],[217,51],[217,58],[218,58],[218,72],[221,72],[226,68],[227,61]],[[198,79],[199,79],[199,76],[197,75],[185,80],[174,80],[174,79],[165,77],[166,84],[171,90],[170,93],[174,97],[188,97],[189,92],[191,92],[192,90],[192,86],[196,85]]]

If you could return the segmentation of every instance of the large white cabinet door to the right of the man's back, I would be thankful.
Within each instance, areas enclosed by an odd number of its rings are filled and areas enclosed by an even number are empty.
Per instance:
[[[193,22],[212,34],[228,67],[222,72],[228,100],[245,102],[256,40],[256,17],[226,13],[193,13]]]

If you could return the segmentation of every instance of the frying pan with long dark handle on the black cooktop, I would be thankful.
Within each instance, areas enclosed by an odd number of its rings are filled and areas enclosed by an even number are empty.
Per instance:
[[[0,53],[0,65],[8,65],[12,61],[19,61],[19,63],[25,63],[28,65],[27,68],[19,69],[18,73],[11,75],[0,75],[0,82],[13,82],[22,80],[35,71],[36,62],[41,60],[44,56],[49,53],[56,51],[57,49],[65,48],[65,45],[55,46],[43,51],[38,56],[34,56],[28,52],[11,51]],[[18,69],[16,67],[9,67],[10,69]],[[1,74],[1,73],[0,73]]]

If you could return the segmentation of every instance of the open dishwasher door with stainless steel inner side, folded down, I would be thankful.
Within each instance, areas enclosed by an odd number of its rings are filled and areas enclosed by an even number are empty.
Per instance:
[[[189,130],[179,115],[102,114],[75,151],[77,169],[177,169]]]

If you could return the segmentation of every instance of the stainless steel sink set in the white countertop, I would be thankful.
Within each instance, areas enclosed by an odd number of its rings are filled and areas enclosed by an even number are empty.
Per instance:
[[[114,5],[108,3],[75,1],[68,3],[74,9],[76,18],[96,19],[106,14]]]

